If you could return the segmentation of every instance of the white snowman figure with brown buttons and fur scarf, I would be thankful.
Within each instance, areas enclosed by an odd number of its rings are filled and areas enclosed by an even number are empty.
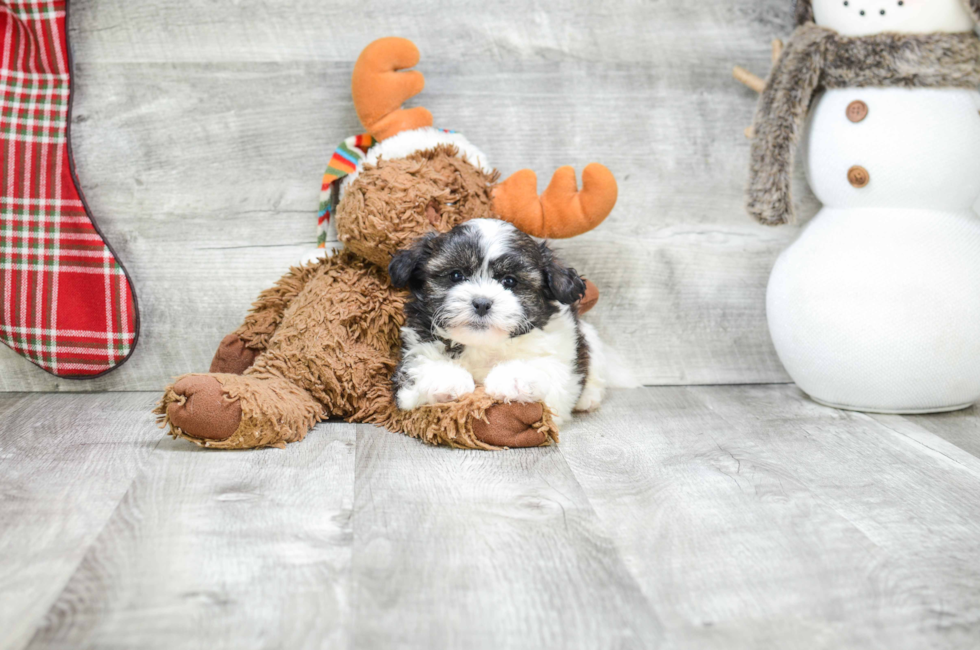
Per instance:
[[[794,150],[823,209],[766,308],[814,400],[924,413],[980,399],[980,0],[801,0],[764,88],[749,212],[793,220]],[[744,79],[743,79],[744,80]]]

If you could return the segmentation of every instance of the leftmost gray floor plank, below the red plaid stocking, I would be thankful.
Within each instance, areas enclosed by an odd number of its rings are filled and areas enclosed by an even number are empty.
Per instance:
[[[0,648],[22,648],[153,447],[155,395],[0,396]]]

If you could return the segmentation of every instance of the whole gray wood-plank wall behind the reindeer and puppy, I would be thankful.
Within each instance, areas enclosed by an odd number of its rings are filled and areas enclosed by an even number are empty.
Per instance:
[[[730,78],[734,63],[768,68],[771,38],[790,30],[784,0],[72,7],[79,175],[135,278],[143,340],[124,369],[83,384],[2,350],[0,390],[159,390],[206,369],[312,242],[320,174],[359,130],[353,60],[392,33],[422,49],[419,102],[503,173],[530,167],[542,188],[565,164],[616,174],[614,214],[562,248],[602,289],[592,319],[644,382],[788,379],[764,295],[798,229],[745,214],[756,98]],[[816,205],[798,180],[805,220]]]

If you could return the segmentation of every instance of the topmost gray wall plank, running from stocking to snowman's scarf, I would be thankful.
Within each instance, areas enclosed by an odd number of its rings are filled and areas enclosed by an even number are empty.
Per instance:
[[[752,3],[661,2],[606,5],[582,0],[528,4],[501,0],[362,0],[357,8],[290,0],[233,5],[166,0],[118,3],[73,0],[70,30],[85,62],[349,62],[382,35],[425,44],[426,60],[505,61],[579,59],[635,63],[651,60],[707,71],[711,54],[734,46],[752,56],[740,62],[764,74],[769,42],[789,33],[792,6]],[[451,26],[452,29],[447,29]],[[720,71],[729,75],[731,66]]]

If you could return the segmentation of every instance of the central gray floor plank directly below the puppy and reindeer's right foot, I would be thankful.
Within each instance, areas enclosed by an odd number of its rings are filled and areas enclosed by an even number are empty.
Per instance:
[[[357,432],[355,646],[652,648],[659,624],[557,448]]]

